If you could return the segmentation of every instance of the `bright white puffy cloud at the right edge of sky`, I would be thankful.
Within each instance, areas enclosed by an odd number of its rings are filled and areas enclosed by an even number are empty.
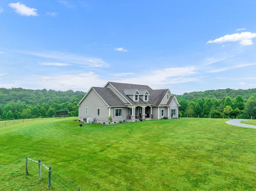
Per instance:
[[[224,43],[224,42],[239,42],[243,46],[252,45],[252,39],[256,37],[256,33],[242,32],[231,35],[225,35],[215,40],[209,40],[208,43]]]

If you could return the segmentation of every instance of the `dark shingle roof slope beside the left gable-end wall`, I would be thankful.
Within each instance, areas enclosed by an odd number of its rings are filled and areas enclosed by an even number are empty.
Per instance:
[[[96,93],[108,104],[108,106],[125,106],[117,95],[109,88],[92,87]]]

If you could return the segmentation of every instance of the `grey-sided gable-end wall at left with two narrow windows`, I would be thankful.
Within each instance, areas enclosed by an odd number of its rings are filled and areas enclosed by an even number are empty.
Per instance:
[[[88,107],[88,115],[86,115],[86,107]],[[100,108],[100,116],[97,116],[98,108]],[[84,121],[84,118],[89,117],[96,121],[108,121],[108,107],[93,89],[79,106],[79,120]]]

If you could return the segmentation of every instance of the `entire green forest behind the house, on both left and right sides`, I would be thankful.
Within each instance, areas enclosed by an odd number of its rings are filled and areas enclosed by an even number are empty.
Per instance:
[[[78,116],[82,91],[0,88],[0,120],[54,117],[59,110]],[[175,95],[180,117],[256,118],[256,89],[208,90]]]

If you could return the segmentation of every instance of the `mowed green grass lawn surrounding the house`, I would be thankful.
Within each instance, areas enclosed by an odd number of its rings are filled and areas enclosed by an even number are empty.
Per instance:
[[[115,125],[47,118],[0,128],[0,190],[253,191],[256,129],[225,119],[181,118]],[[57,176],[56,176],[57,175]]]

